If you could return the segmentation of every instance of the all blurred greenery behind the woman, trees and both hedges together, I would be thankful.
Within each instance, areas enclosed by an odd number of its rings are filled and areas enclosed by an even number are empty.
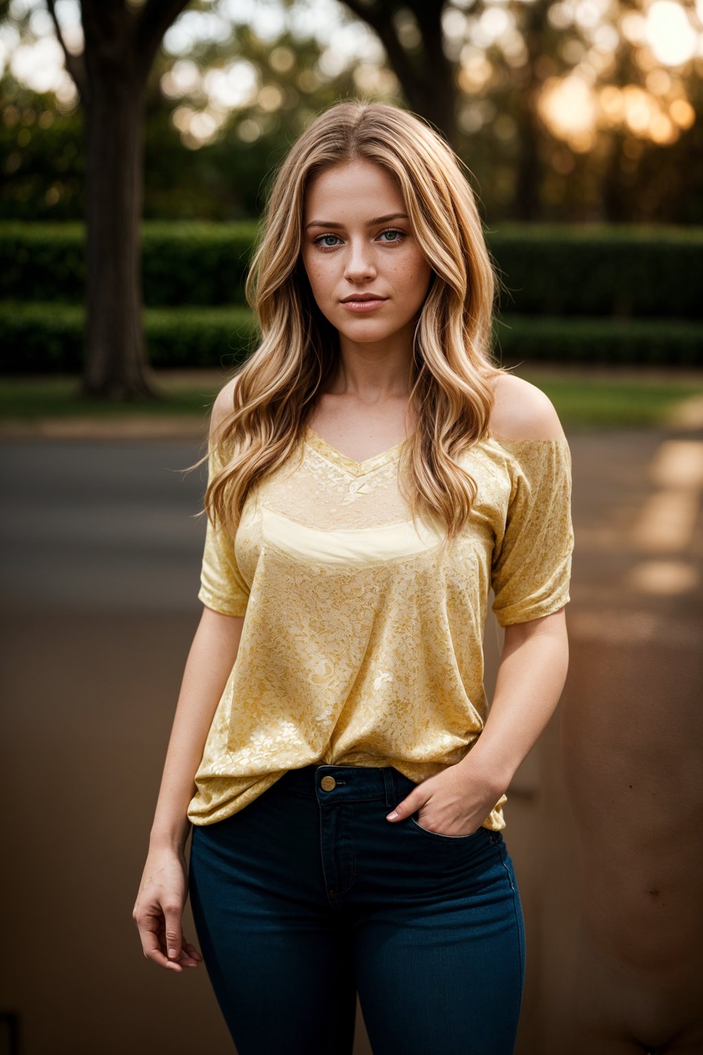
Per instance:
[[[145,99],[151,365],[231,368],[256,346],[243,280],[268,184],[316,113],[364,97],[444,113],[502,284],[500,360],[699,368],[703,0],[423,3],[191,0],[176,18]],[[79,55],[79,3],[56,14]],[[3,372],[77,375],[84,112],[43,0],[0,0],[0,74]]]

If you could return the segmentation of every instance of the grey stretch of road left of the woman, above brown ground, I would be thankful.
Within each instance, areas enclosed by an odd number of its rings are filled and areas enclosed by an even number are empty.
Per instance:
[[[203,453],[197,440],[0,445],[4,606],[197,611],[207,466],[179,471]]]

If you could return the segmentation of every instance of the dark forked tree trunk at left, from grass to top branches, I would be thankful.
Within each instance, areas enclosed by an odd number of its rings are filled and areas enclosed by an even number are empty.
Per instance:
[[[84,46],[66,47],[46,0],[84,115],[85,329],[79,395],[158,399],[141,321],[144,92],[163,34],[188,0],[80,0]]]

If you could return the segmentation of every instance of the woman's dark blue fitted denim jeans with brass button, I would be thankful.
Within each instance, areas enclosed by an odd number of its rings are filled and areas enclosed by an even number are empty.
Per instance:
[[[512,862],[487,828],[387,821],[413,787],[393,767],[311,765],[193,827],[195,927],[239,1055],[351,1055],[357,993],[374,1055],[511,1055]]]

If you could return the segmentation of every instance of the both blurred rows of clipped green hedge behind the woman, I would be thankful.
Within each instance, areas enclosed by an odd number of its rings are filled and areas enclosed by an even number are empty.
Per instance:
[[[77,373],[82,226],[0,222],[3,371]],[[147,220],[143,322],[155,367],[233,367],[256,347],[243,281],[254,220]],[[700,367],[703,229],[505,223],[487,234],[505,362]]]

